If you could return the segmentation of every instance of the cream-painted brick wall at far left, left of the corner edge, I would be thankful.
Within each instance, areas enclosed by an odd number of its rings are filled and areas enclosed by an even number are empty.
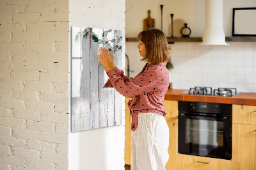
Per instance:
[[[68,10],[0,1],[0,169],[68,169]]]

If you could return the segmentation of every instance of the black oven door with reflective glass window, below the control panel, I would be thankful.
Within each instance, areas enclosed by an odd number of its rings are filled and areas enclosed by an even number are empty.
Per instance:
[[[223,116],[179,115],[179,153],[231,159],[229,121]]]

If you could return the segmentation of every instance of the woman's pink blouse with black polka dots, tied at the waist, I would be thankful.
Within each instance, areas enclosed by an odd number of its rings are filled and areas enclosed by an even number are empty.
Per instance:
[[[138,112],[166,115],[163,100],[170,82],[166,63],[146,63],[134,78],[125,76],[124,70],[117,67],[107,72],[109,79],[104,88],[115,88],[124,97],[132,97],[128,102],[132,116],[132,131],[136,130],[138,125]]]

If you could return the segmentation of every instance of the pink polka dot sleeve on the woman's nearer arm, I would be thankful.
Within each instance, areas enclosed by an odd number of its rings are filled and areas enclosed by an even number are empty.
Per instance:
[[[145,70],[134,78],[123,79],[114,70],[107,72],[111,85],[124,97],[141,95],[151,91],[157,91],[158,73],[155,70]],[[126,78],[126,77],[125,77]]]

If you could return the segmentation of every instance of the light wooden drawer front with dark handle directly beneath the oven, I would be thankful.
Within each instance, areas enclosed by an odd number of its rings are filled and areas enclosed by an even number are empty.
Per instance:
[[[231,170],[232,161],[178,154],[177,170]]]

